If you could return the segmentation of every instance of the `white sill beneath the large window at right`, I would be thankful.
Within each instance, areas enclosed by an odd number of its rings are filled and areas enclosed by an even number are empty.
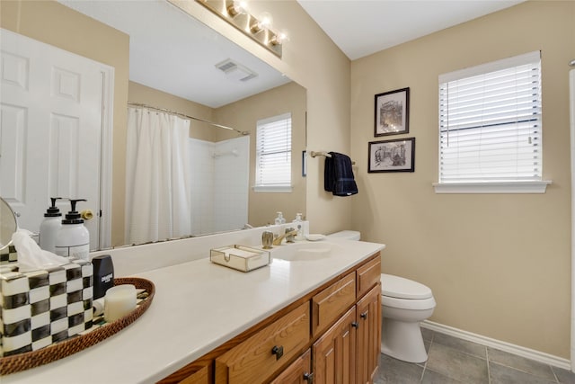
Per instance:
[[[436,193],[544,193],[550,180],[541,182],[433,183]]]

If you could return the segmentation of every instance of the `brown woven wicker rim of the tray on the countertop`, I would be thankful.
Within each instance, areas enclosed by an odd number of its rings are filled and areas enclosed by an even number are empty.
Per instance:
[[[129,315],[121,317],[104,326],[100,326],[88,334],[71,337],[57,344],[52,344],[39,349],[38,351],[20,353],[0,358],[0,375],[8,375],[14,372],[25,371],[39,367],[40,365],[48,364],[49,362],[55,362],[66,356],[91,347],[94,344],[98,344],[102,340],[107,339],[111,335],[115,335],[120,330],[136,321],[137,317],[140,317],[144,312],[146,312],[146,309],[152,303],[152,299],[154,299],[155,286],[152,281],[137,277],[128,277],[114,279],[114,284],[134,284],[136,288],[146,290],[148,297],[142,300],[137,305],[137,308]]]

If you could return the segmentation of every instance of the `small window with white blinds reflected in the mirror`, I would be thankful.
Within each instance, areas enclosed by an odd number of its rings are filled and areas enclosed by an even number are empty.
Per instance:
[[[291,113],[258,121],[255,192],[291,192]]]

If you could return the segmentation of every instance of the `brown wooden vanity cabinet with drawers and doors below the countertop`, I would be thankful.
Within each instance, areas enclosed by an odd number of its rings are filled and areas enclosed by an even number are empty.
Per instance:
[[[381,344],[380,268],[377,253],[161,382],[372,384]]]

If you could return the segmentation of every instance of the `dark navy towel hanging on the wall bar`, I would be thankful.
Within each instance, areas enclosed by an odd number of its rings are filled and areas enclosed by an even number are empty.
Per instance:
[[[337,152],[330,152],[330,155],[332,157],[325,157],[323,189],[335,196],[351,196],[358,193],[349,156]]]

